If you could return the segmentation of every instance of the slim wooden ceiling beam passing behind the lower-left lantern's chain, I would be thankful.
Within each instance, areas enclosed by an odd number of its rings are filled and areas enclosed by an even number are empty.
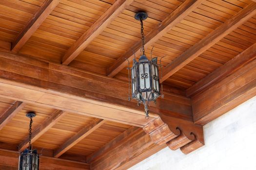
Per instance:
[[[41,124],[37,129],[32,132],[31,143],[35,142],[40,136],[42,136],[51,127],[53,127],[60,119],[65,116],[65,114],[66,113],[61,110],[55,111],[49,119],[45,120],[43,124]],[[28,147],[28,141],[29,136],[27,136],[26,139],[19,144],[19,151],[23,151],[25,148]]]

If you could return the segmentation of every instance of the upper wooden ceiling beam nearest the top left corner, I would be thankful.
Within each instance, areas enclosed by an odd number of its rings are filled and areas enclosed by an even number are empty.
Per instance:
[[[12,51],[18,52],[22,46],[27,42],[27,40],[34,34],[46,17],[54,10],[54,8],[59,4],[59,0],[45,0],[39,10],[34,14],[34,16],[29,20],[27,25],[18,34],[12,43]]]

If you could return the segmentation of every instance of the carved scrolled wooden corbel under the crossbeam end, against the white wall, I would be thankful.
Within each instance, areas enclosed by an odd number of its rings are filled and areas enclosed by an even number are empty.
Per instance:
[[[166,143],[171,150],[180,148],[184,154],[204,145],[202,126],[164,114],[145,125],[143,130],[156,144]]]

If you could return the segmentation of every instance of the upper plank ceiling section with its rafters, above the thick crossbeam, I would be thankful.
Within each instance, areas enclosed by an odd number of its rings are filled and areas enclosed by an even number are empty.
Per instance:
[[[170,71],[163,70],[165,84],[185,90],[256,42],[256,17],[252,12],[255,6],[249,5],[251,2],[2,0],[0,39],[13,43],[12,51],[21,54],[111,77],[126,78],[127,75],[122,75],[127,73],[124,69],[127,63],[123,57],[131,59],[131,49],[138,50],[136,54],[139,57],[140,24],[134,15],[143,10],[149,15],[144,22],[148,57],[154,47],[152,55],[159,59],[165,56],[162,64],[167,66],[196,44],[203,49],[190,56],[182,68],[167,76],[165,74]],[[251,11],[251,14],[240,14],[243,9]],[[244,16],[242,20],[236,17],[237,13]],[[232,18],[234,23],[228,23]],[[29,28],[33,23],[36,26]],[[226,31],[220,27],[230,29]],[[154,32],[156,30],[163,32],[161,36]],[[202,42],[198,44],[202,39],[209,38],[209,34],[212,37],[214,30],[225,32],[219,32],[211,39],[211,44],[205,44],[205,47]],[[26,37],[20,38],[23,34]],[[117,67],[117,70],[114,69]],[[170,69],[173,67],[170,66]]]

